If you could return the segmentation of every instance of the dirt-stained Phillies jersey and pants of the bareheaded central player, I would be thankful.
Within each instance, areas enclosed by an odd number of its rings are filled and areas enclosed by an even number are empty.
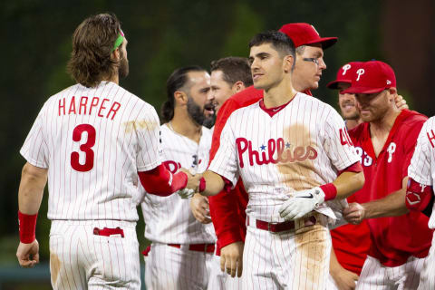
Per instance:
[[[245,289],[322,288],[329,270],[331,239],[326,204],[314,214],[317,223],[272,234],[256,228],[256,220],[284,222],[278,208],[297,190],[332,182],[337,172],[357,162],[343,119],[333,108],[304,93],[291,102],[266,109],[256,102],[231,114],[209,169],[232,184],[243,180],[249,195],[244,249]],[[315,248],[315,251],[313,250]]]

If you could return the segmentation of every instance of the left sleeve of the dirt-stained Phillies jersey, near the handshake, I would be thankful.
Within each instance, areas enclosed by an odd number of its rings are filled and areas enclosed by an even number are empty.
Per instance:
[[[234,122],[234,118],[230,117],[220,134],[218,152],[216,152],[216,156],[211,161],[208,169],[231,181],[234,187],[237,184],[239,171],[236,138],[232,129],[232,122]]]

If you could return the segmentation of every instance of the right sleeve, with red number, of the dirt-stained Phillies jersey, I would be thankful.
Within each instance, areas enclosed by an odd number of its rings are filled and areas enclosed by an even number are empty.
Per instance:
[[[324,123],[324,150],[337,170],[346,169],[360,160],[342,117],[332,107]]]

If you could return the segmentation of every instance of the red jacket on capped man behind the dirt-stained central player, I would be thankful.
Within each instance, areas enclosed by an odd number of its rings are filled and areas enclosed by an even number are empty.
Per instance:
[[[311,92],[304,92],[311,95]],[[256,90],[254,86],[248,87],[242,92],[231,96],[218,111],[213,139],[210,149],[210,163],[215,158],[216,152],[220,145],[220,133],[224,129],[225,123],[233,111],[247,107],[258,102],[263,98],[263,90]],[[215,227],[216,236],[218,237],[217,255],[220,255],[220,249],[229,244],[245,241],[247,236],[247,191],[243,186],[241,179],[238,179],[237,185],[230,192],[222,190],[217,196],[210,197],[210,216]]]

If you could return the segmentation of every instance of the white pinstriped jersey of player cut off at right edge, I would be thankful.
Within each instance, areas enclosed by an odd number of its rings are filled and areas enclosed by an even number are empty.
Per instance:
[[[408,176],[415,181],[434,186],[435,179],[435,117],[430,117],[421,128]],[[435,204],[429,219],[429,228],[435,228]]]

